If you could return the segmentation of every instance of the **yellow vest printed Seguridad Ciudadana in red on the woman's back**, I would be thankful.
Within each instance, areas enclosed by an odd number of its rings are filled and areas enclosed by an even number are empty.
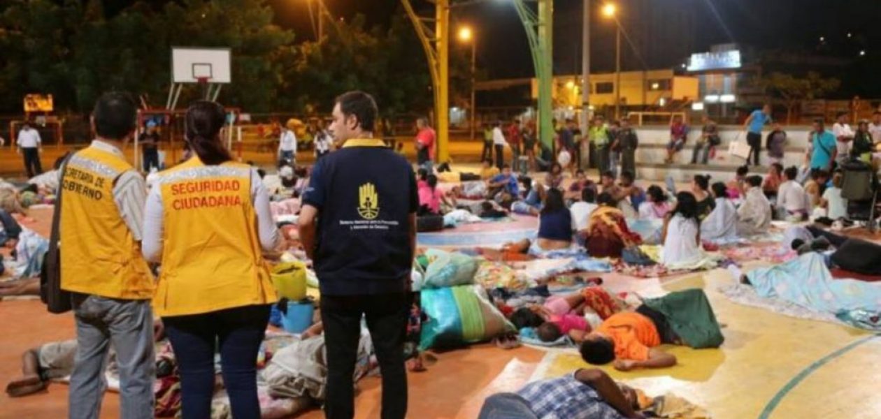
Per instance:
[[[197,157],[159,173],[153,186],[162,188],[163,211],[157,315],[277,301],[261,252],[251,181],[248,165],[204,165]]]

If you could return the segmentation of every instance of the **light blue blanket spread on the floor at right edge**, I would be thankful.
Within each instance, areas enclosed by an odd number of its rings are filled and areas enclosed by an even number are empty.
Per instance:
[[[746,276],[761,297],[781,298],[855,327],[881,330],[881,283],[833,279],[821,254],[803,254]]]

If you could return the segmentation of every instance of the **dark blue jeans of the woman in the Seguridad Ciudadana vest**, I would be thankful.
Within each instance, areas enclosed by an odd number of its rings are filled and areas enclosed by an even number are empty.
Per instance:
[[[263,343],[269,319],[270,305],[245,305],[218,312],[162,318],[181,371],[184,419],[211,417],[217,346],[233,417],[260,417],[257,351]],[[152,415],[152,411],[150,413]]]

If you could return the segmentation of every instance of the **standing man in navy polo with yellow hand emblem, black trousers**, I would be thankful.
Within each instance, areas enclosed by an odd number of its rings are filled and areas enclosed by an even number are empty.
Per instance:
[[[403,341],[416,248],[416,178],[407,160],[374,139],[376,114],[365,92],[337,98],[330,133],[342,148],[315,164],[300,211],[300,239],[322,291],[329,419],[354,416],[362,317],[382,371],[381,417],[407,413]]]

